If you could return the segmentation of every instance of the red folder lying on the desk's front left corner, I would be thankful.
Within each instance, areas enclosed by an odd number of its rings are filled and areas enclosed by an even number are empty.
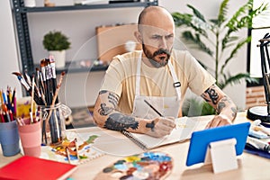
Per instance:
[[[76,165],[23,156],[0,168],[0,179],[66,179],[76,168]]]

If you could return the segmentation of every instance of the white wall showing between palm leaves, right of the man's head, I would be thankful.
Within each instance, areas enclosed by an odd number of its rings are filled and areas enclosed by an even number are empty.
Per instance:
[[[186,6],[186,4],[192,4],[195,8],[200,10],[200,12],[204,15],[205,19],[216,18],[221,0],[160,0],[159,5],[166,7],[171,13],[172,12],[182,12],[182,13],[192,13],[191,10]],[[238,8],[245,4],[247,1],[239,0],[239,1],[229,1],[229,10],[228,16],[230,17],[232,14],[229,12],[235,13]],[[242,38],[247,37],[247,30],[239,31],[238,35]],[[195,58],[202,60],[203,63],[208,66],[214,67],[213,61],[210,60],[209,57],[204,54],[198,52],[196,49],[189,49]],[[229,64],[230,73],[237,74],[240,72],[247,71],[247,45],[238,51],[238,55],[235,59],[231,60]],[[240,85],[228,86],[224,89],[224,92],[228,94],[231,99],[238,105],[240,110],[245,109],[246,107],[246,83],[243,82]]]

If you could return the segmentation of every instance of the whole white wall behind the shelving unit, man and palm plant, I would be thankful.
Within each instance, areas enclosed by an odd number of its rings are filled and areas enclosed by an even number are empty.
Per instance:
[[[42,4],[42,0],[36,0],[37,5]],[[72,0],[54,0],[56,4],[72,4]],[[193,4],[198,8],[205,18],[210,19],[216,17],[218,14],[218,8],[221,0],[159,0],[159,4],[165,6],[171,13],[175,11],[189,12],[186,4]],[[229,11],[235,12],[235,10],[246,1],[230,1]],[[7,1],[0,1],[2,18],[1,25],[5,24],[5,28],[2,29],[4,33],[1,33],[1,49],[0,54],[4,59],[8,60],[8,66],[0,67],[1,79],[8,79],[6,82],[1,80],[1,86],[5,86],[7,83],[11,85],[18,85],[18,82],[14,80],[14,76],[10,76],[10,72],[18,68],[17,55],[14,45],[14,31],[13,23],[11,22],[11,11],[9,3]],[[5,7],[5,8],[4,8]],[[67,58],[70,60],[90,59],[96,58],[95,48],[95,27],[98,25],[107,25],[114,23],[136,23],[138,14],[141,8],[124,8],[124,9],[103,9],[92,11],[79,11],[79,12],[61,12],[61,13],[34,13],[29,15],[29,23],[31,23],[31,48],[33,51],[33,58],[36,63],[40,62],[41,58],[47,58],[47,51],[42,48],[41,40],[45,32],[49,30],[61,30],[67,33],[67,36],[72,41],[72,49],[67,50]],[[4,19],[4,20],[3,20]],[[57,19],[58,21],[54,21]],[[2,21],[4,21],[2,23]],[[240,35],[246,36],[247,32],[241,32]],[[4,40],[3,40],[4,39]],[[6,43],[6,42],[9,43]],[[5,43],[3,43],[5,42]],[[83,47],[83,48],[82,48]],[[196,58],[201,54],[195,53],[195,50],[190,49],[193,56]],[[3,56],[4,54],[4,56]],[[75,57],[76,55],[76,57]],[[90,56],[89,56],[90,55]],[[90,57],[90,58],[89,58]],[[2,59],[1,61],[4,61]],[[12,61],[11,61],[12,60]],[[230,65],[231,72],[245,72],[247,69],[247,47],[244,47],[237,56],[237,59],[233,60]],[[9,67],[10,69],[8,69]],[[3,68],[3,70],[2,70]],[[4,76],[4,78],[2,77]],[[61,89],[60,100],[63,103],[67,103],[69,106],[72,104],[85,105],[94,104],[97,90],[102,81],[103,73],[87,73],[71,74],[66,76],[66,87]],[[85,81],[87,79],[87,83]],[[3,83],[2,83],[3,82]],[[82,88],[86,90],[82,90]],[[78,89],[80,89],[78,91]],[[237,103],[240,109],[245,108],[246,103],[246,85],[235,85],[225,89],[225,92]],[[82,98],[77,98],[82,97]],[[85,98],[85,99],[84,99]]]

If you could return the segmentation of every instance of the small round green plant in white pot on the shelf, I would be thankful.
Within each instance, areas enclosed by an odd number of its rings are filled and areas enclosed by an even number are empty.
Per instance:
[[[66,49],[70,48],[70,41],[61,31],[49,31],[44,35],[43,46],[49,51],[49,55],[55,58],[56,67],[65,67]]]

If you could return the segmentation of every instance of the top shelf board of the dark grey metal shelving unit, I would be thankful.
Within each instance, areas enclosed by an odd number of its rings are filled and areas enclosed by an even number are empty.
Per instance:
[[[41,13],[41,12],[58,12],[58,11],[76,11],[76,10],[89,10],[89,9],[109,9],[109,8],[123,8],[123,7],[145,7],[155,2],[134,2],[134,3],[113,3],[113,4],[77,4],[53,7],[17,7],[16,13]]]

